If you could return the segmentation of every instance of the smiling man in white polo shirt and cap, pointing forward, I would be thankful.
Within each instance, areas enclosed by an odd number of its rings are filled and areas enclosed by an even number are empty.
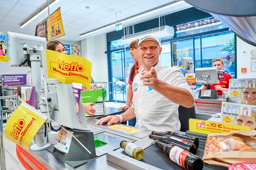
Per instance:
[[[162,65],[159,61],[162,47],[157,36],[146,34],[140,37],[138,52],[143,66],[133,80],[132,107],[120,115],[101,118],[97,124],[101,125],[106,121],[110,125],[136,117],[135,127],[155,131],[179,131],[178,107],[193,107],[192,89],[180,69]]]

